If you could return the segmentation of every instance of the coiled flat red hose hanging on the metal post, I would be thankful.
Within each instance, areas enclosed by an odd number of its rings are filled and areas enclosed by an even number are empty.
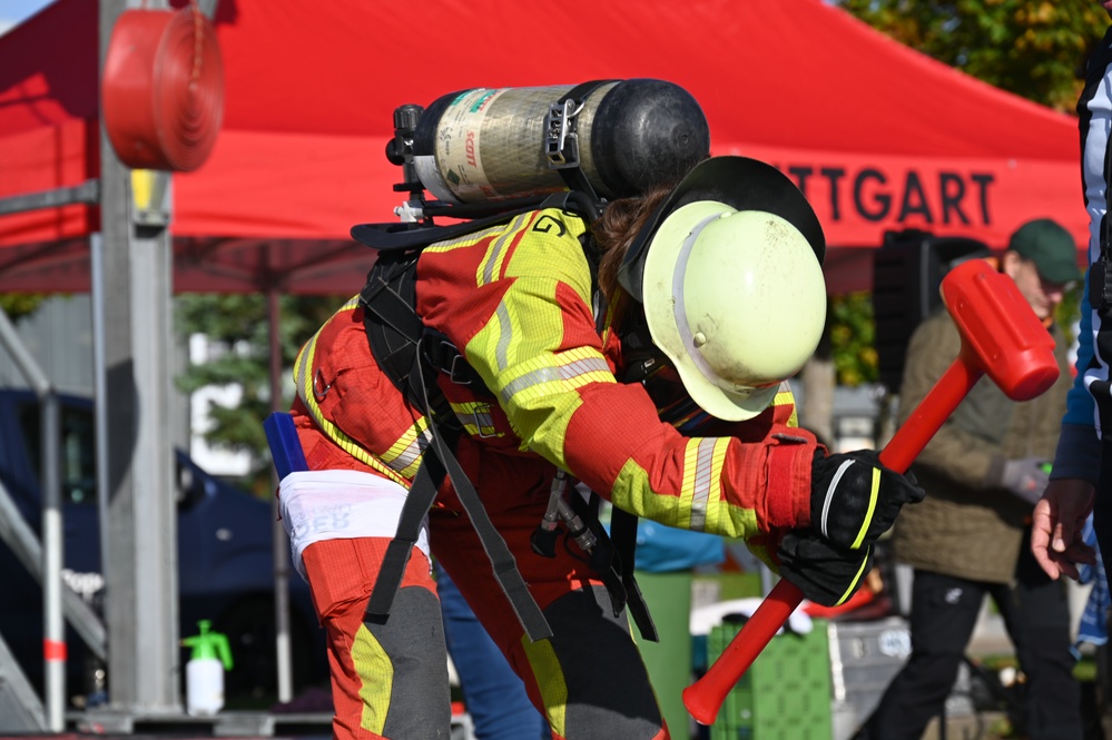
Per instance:
[[[196,8],[126,10],[112,28],[100,85],[105,129],[132,169],[200,167],[224,117],[224,63]]]

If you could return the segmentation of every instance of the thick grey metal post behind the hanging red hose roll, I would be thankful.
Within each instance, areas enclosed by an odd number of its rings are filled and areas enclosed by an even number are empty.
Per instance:
[[[165,2],[154,6],[164,7]],[[100,65],[127,0],[100,0]],[[181,712],[177,525],[169,440],[171,253],[165,226],[139,225],[130,171],[100,127],[104,396],[108,486],[105,609],[109,710]],[[99,383],[99,382],[98,382]]]

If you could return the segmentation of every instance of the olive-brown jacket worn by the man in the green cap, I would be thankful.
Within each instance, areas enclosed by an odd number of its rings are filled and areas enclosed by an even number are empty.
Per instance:
[[[923,450],[912,472],[926,499],[905,506],[893,531],[895,558],[946,575],[1011,582],[1033,506],[998,487],[1005,460],[1051,461],[1072,383],[1065,339],[1054,326],[1061,374],[1041,396],[1014,402],[986,376]],[[912,335],[901,387],[903,423],[957,357],[961,337],[945,309]]]

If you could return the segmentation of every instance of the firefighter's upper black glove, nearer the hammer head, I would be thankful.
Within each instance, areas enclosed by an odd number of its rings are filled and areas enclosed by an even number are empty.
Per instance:
[[[901,506],[923,501],[911,475],[880,464],[873,450],[825,455],[815,451],[810,472],[810,525],[833,544],[857,550],[876,542]]]

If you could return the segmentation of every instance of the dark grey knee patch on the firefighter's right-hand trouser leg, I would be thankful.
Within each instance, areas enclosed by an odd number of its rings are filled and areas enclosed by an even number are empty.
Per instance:
[[[652,738],[663,722],[623,611],[614,616],[607,590],[561,596],[544,616],[568,688],[567,737]]]

